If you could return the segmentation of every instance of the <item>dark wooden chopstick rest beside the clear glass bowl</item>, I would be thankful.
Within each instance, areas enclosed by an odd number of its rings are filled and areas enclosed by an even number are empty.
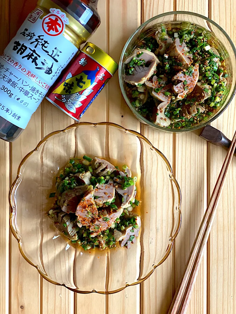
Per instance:
[[[211,127],[210,125],[207,125],[199,136],[205,138],[208,142],[214,145],[229,148],[231,144],[231,141],[220,130]],[[236,154],[236,150],[234,154]]]

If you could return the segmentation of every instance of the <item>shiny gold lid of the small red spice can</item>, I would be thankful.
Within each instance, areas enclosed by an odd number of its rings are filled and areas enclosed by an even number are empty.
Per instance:
[[[97,61],[103,68],[110,72],[111,75],[114,75],[117,71],[119,65],[105,51],[91,42],[87,42],[82,51]]]

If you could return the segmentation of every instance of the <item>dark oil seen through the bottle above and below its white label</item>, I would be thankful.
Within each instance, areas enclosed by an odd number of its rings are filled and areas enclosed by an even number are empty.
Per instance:
[[[98,0],[52,0],[73,16],[92,35],[100,24],[97,11]],[[0,138],[13,142],[23,131],[0,116]]]

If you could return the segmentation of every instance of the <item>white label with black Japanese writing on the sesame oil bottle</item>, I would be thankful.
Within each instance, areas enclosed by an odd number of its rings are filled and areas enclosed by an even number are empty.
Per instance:
[[[50,86],[78,49],[63,33],[66,14],[35,9],[0,56],[0,116],[25,129]]]

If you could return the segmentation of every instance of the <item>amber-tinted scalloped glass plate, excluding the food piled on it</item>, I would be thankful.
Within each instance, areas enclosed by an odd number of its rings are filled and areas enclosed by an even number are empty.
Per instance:
[[[142,229],[130,249],[69,245],[46,215],[58,170],[84,154],[129,165],[138,177]],[[166,157],[143,135],[109,122],[76,123],[43,138],[20,163],[9,200],[25,260],[49,282],[80,293],[114,293],[148,278],[170,254],[181,223],[181,193]]]

